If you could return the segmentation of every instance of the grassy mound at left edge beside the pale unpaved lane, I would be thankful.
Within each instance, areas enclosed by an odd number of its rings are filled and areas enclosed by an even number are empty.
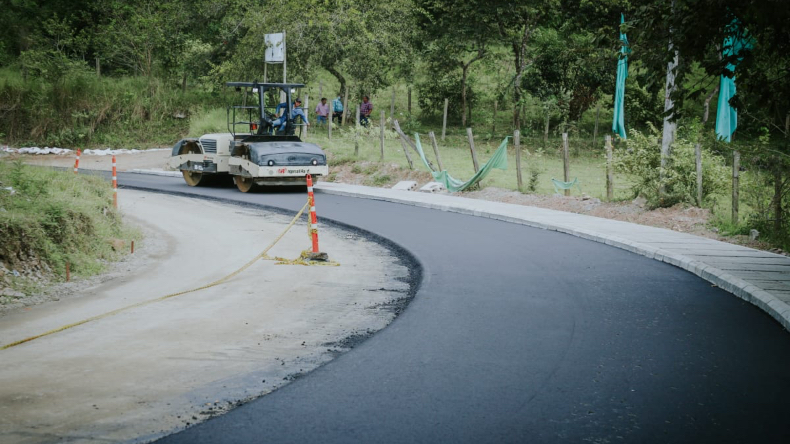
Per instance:
[[[124,254],[111,240],[140,237],[113,208],[105,180],[0,161],[0,262],[8,270],[37,262],[64,276],[68,262],[72,274],[90,276]]]

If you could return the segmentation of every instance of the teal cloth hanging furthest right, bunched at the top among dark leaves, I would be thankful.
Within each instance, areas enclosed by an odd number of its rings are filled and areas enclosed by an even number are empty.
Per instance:
[[[741,33],[738,29],[737,21],[730,25],[730,36],[724,39],[722,53],[725,57],[737,56],[743,49],[751,49],[752,45],[746,37],[746,33]],[[728,63],[727,70],[735,72],[735,67],[740,58],[735,63]],[[732,78],[725,75],[721,76],[719,84],[719,103],[716,107],[716,136],[726,142],[732,142],[732,134],[738,128],[738,111],[730,106],[730,99],[735,97],[735,75]]]

